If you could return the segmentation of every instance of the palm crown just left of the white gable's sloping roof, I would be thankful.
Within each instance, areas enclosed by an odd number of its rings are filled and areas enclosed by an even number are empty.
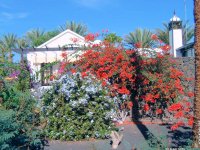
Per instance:
[[[26,33],[26,40],[31,47],[39,46],[43,43],[40,38],[44,36],[44,31],[41,29],[33,29]]]

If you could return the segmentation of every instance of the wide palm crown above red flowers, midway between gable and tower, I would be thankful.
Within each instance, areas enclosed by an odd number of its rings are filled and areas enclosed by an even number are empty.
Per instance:
[[[136,29],[125,37],[125,41],[131,45],[140,44],[141,48],[149,48],[152,46],[152,32],[146,29]]]

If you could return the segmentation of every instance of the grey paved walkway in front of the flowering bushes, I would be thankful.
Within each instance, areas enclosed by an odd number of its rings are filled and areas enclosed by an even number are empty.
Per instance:
[[[191,129],[184,127],[172,132],[168,125],[141,123],[129,123],[121,125],[124,130],[124,138],[118,150],[164,150],[169,147],[186,148],[186,140],[191,138]],[[50,141],[45,150],[111,150],[110,139],[82,141],[82,142],[61,142]]]

